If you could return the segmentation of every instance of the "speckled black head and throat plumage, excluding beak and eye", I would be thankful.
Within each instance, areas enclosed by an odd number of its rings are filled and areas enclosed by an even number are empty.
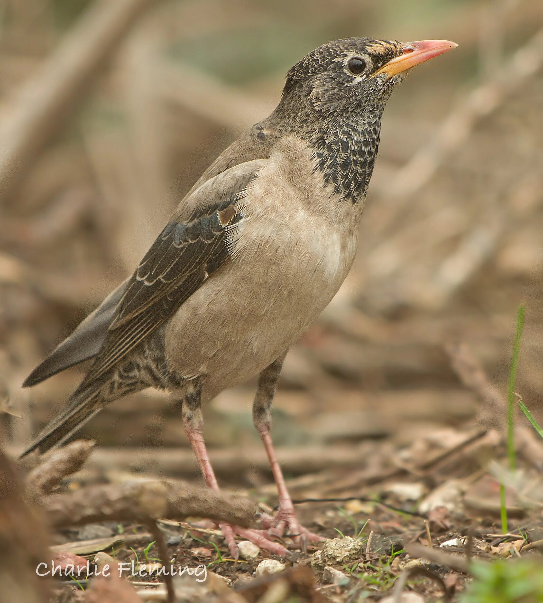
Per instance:
[[[307,140],[325,185],[353,203],[366,195],[383,109],[403,80],[403,74],[374,74],[400,54],[400,42],[364,37],[319,46],[287,72],[281,102],[271,116],[275,128]],[[366,64],[358,75],[348,68],[355,57]]]

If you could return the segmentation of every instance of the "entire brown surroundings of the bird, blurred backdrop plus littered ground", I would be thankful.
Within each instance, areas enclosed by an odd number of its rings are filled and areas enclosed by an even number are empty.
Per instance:
[[[0,602],[166,601],[149,563],[205,568],[174,576],[187,603],[543,601],[543,440],[517,408],[543,424],[543,4],[10,0],[0,16],[0,442],[13,461],[0,462]],[[236,564],[215,527],[195,527],[277,505],[255,382],[204,410],[224,501],[198,490],[178,402],[150,390],[84,426],[96,445],[56,472],[14,462],[86,366],[31,390],[25,376],[274,108],[286,69],[359,34],[459,47],[392,96],[353,270],[281,374],[278,457],[301,522],[328,540]],[[168,488],[196,488],[181,498],[201,514]],[[133,561],[137,576],[40,578],[50,547],[93,572]],[[260,575],[266,564],[281,571]]]

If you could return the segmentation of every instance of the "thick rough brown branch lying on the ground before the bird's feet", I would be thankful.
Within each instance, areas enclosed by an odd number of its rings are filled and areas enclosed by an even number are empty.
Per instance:
[[[256,505],[241,496],[221,496],[186,482],[139,481],[49,494],[40,502],[55,528],[101,521],[136,521],[206,517],[248,527]]]

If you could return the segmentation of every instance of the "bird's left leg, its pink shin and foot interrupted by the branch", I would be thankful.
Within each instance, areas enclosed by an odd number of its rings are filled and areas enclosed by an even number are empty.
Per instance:
[[[192,446],[192,450],[198,460],[202,477],[204,478],[207,487],[218,492],[219,484],[217,483],[215,472],[209,461],[206,443],[204,442],[204,419],[201,411],[201,394],[202,383],[195,382],[195,384],[192,384],[192,387],[189,388],[189,391],[187,391],[187,394],[184,397],[181,415],[183,417],[185,433],[187,434],[187,438],[189,438],[190,446]],[[260,546],[260,548],[268,549],[268,551],[274,552],[277,555],[290,555],[289,551],[287,551],[284,546],[268,540],[265,532],[262,530],[240,528],[239,526],[230,525],[230,523],[219,523],[219,528],[221,528],[221,531],[224,534],[230,554],[236,561],[239,558],[239,549],[236,545],[234,532],[239,534],[242,538],[246,538],[246,540],[250,540],[257,546]]]

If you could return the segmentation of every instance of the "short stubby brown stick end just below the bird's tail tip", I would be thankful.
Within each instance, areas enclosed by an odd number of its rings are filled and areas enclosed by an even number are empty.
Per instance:
[[[67,475],[77,472],[89,458],[92,440],[77,440],[43,457],[26,478],[27,488],[38,496],[49,494]]]

